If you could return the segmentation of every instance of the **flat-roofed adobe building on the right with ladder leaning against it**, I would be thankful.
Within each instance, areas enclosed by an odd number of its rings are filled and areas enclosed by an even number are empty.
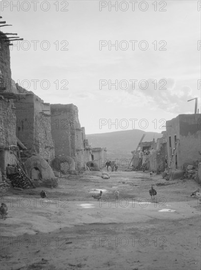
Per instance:
[[[169,161],[175,147],[171,168],[183,170],[184,163],[198,167],[201,162],[201,114],[179,114],[166,122],[166,130]]]

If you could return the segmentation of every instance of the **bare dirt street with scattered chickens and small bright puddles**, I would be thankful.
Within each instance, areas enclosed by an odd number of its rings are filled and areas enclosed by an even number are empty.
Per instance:
[[[190,196],[199,185],[110,174],[59,178],[45,199],[41,188],[10,189],[1,198],[8,216],[0,219],[0,269],[201,270],[201,204]],[[100,190],[98,202],[92,195]]]

